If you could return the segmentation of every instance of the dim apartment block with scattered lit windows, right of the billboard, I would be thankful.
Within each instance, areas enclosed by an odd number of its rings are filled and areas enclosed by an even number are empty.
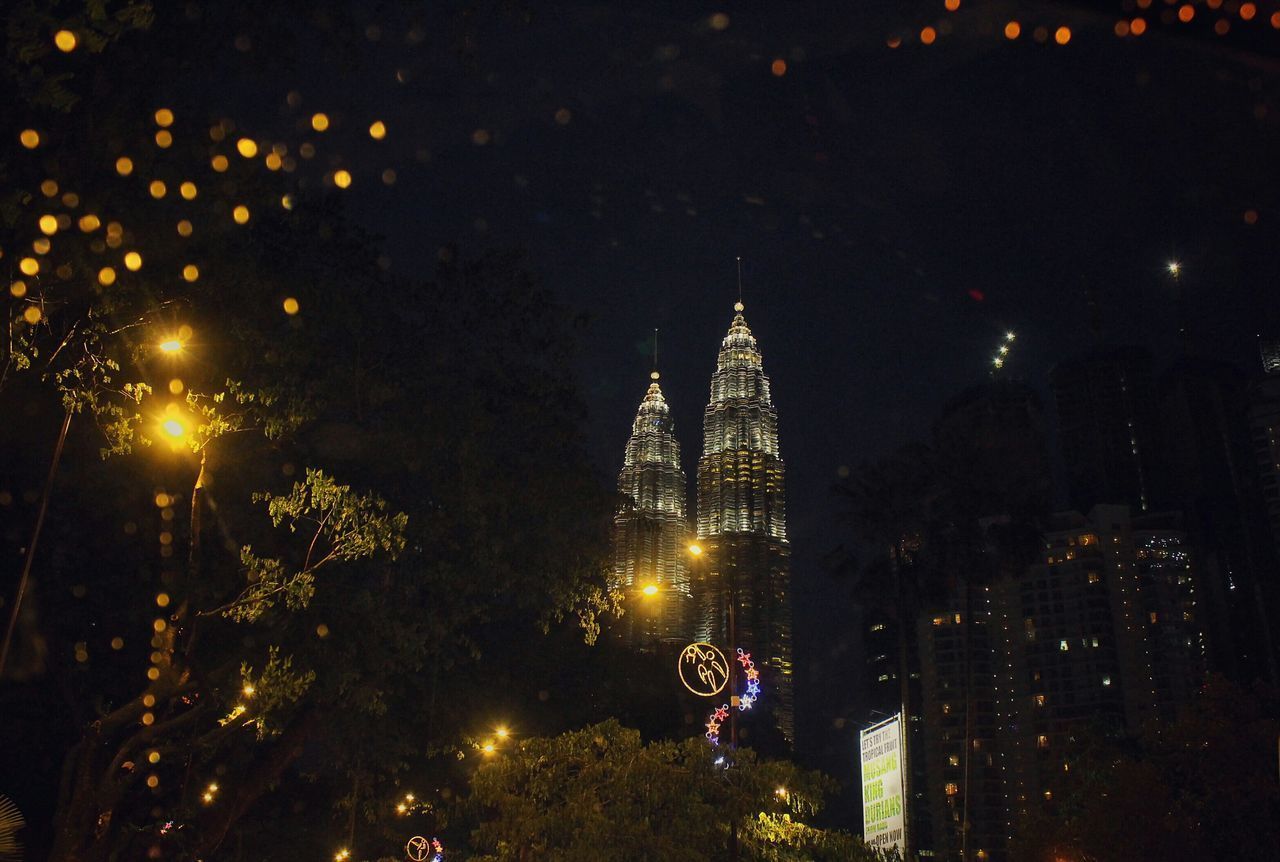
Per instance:
[[[986,519],[991,538],[1007,519]],[[1057,816],[1100,725],[1167,722],[1204,676],[1196,571],[1178,515],[1128,506],[1047,519],[1039,558],[957,573],[968,589],[916,624],[933,847],[1009,859],[1037,809]],[[970,583],[965,583],[970,581]],[[968,797],[968,798],[966,798]]]

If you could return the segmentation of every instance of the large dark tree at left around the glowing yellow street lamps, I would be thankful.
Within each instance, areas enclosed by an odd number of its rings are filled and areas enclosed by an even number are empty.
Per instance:
[[[228,119],[253,4],[67,9],[17,9],[0,68],[0,411],[65,442],[40,555],[20,500],[4,533],[50,656],[5,698],[68,716],[17,729],[67,753],[55,854],[265,848],[280,786],[349,840],[456,744],[476,662],[609,603],[573,319],[515,255],[390,278],[296,132]],[[46,475],[44,424],[4,424],[9,475]]]

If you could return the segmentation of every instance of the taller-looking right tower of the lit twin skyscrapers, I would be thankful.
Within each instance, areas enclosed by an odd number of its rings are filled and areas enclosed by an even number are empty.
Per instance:
[[[751,652],[763,672],[762,703],[774,704],[778,728],[791,740],[791,546],[778,414],[742,304],[733,309],[712,375],[698,461],[698,541],[704,549],[694,584],[699,634],[726,642],[732,598],[737,643],[728,647]]]

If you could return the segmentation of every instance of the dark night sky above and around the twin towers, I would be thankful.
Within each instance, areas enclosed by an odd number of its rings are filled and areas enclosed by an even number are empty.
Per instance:
[[[347,200],[394,273],[429,273],[448,242],[518,246],[589,315],[580,373],[605,474],[654,327],[692,473],[744,257],[787,462],[804,734],[856,715],[826,692],[860,663],[847,590],[819,562],[844,538],[841,465],[925,435],[1006,329],[1006,371],[1043,387],[1093,343],[1088,289],[1103,339],[1167,357],[1171,257],[1197,350],[1252,368],[1277,320],[1277,6],[1244,20],[1238,3],[1196,4],[1179,23],[1148,5],[495,3],[407,40],[412,13],[371,4],[357,67],[321,53],[260,96],[282,126],[329,113],[321,159],[351,169]],[[1116,36],[1139,14],[1146,33]]]

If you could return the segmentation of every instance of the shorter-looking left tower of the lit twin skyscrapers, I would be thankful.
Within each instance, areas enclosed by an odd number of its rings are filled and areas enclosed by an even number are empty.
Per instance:
[[[614,584],[623,590],[626,612],[612,630],[636,649],[687,642],[694,628],[685,471],[671,409],[658,373],[653,377],[627,441],[618,474],[623,502],[613,517]]]

